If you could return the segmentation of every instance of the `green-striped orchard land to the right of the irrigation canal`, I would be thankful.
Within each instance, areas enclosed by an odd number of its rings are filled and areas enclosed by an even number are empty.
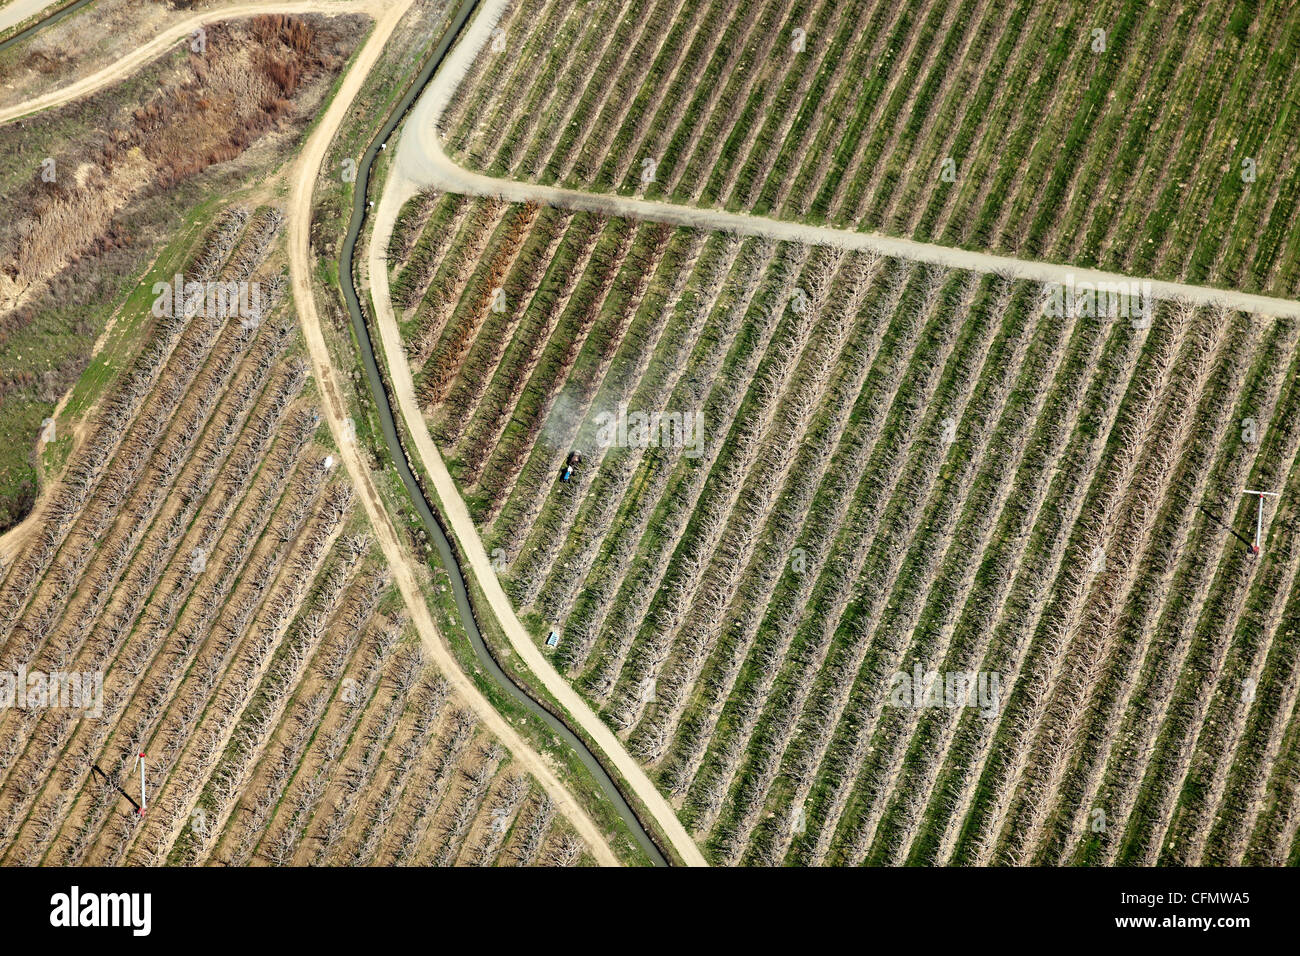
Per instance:
[[[1287,294],[1296,182],[1239,174],[1291,150],[1249,95],[1280,13],[520,3],[441,134],[502,179]],[[1251,164],[1205,146],[1238,109]],[[590,208],[422,193],[394,307],[507,593],[715,862],[1287,860],[1294,308]],[[1244,488],[1282,492],[1268,561]],[[898,706],[953,672],[988,705]]]

